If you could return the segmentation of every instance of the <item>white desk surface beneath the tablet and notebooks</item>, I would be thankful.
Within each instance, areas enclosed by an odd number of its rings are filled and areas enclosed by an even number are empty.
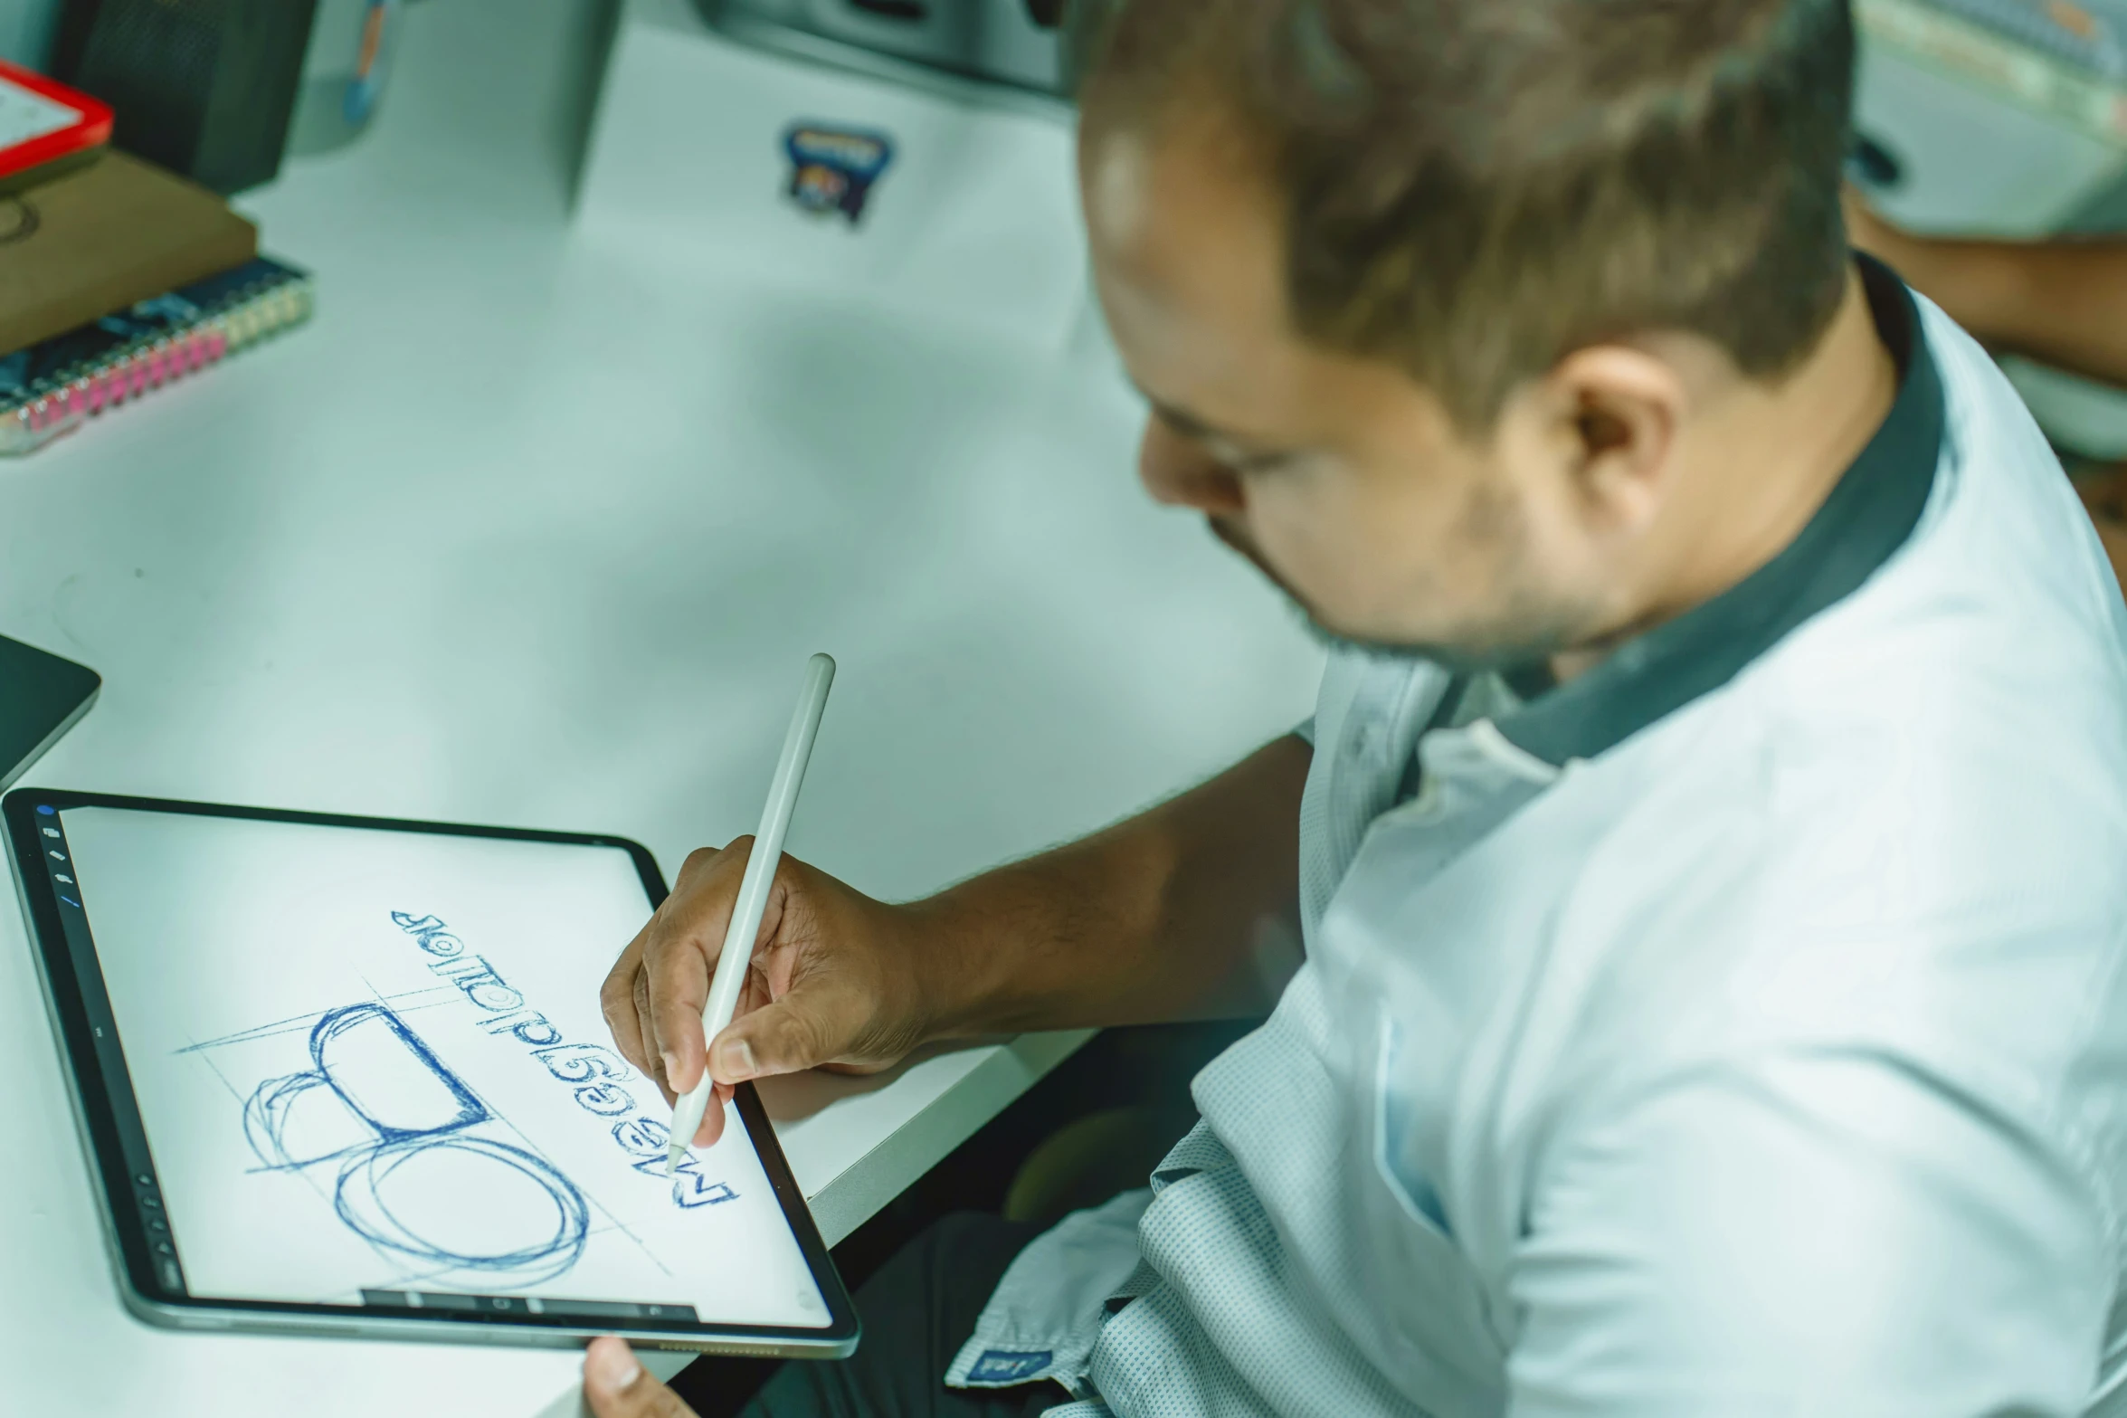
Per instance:
[[[32,782],[610,829],[670,874],[753,825],[804,655],[830,648],[791,850],[915,895],[1306,712],[1317,651],[1200,527],[1146,506],[1136,406],[1083,330],[955,334],[906,302],[689,266],[670,232],[634,253],[625,181],[602,198],[596,170],[568,217],[555,115],[589,13],[406,19],[376,132],[245,202],[270,251],[317,270],[317,321],[0,463],[0,631],[106,678]],[[623,34],[617,57],[655,51]],[[789,83],[823,102],[815,77]],[[1006,119],[961,123],[978,151]],[[687,134],[661,151],[702,181]],[[791,251],[819,238],[772,193],[732,200],[795,223]],[[830,1239],[1070,1044],[778,1091]],[[125,1318],[13,910],[0,1069],[0,1409],[532,1414],[572,1388],[566,1352]]]

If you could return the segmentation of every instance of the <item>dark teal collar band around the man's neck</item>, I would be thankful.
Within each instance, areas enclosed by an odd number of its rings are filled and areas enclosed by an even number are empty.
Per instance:
[[[1889,266],[1859,261],[1870,315],[1899,370],[1882,427],[1772,561],[1502,716],[1497,729],[1519,748],[1559,765],[1614,748],[1727,685],[1791,629],[1850,595],[1912,536],[1942,451],[1942,376],[1912,291]],[[1538,687],[1525,674],[1508,674],[1508,682]]]

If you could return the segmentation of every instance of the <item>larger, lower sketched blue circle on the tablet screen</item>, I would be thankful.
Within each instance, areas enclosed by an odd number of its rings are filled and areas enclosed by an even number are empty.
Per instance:
[[[525,1212],[498,1227],[498,1208]],[[355,1235],[451,1269],[559,1276],[583,1254],[591,1214],[545,1159],[483,1137],[413,1137],[357,1154],[334,1199]],[[498,1244],[496,1235],[508,1235]]]

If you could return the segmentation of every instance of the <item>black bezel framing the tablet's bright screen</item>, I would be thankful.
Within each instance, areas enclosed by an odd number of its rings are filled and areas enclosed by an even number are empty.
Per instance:
[[[579,1348],[596,1335],[617,1333],[642,1348],[689,1350],[702,1354],[749,1354],[785,1358],[840,1358],[857,1348],[859,1322],[849,1290],[827,1254],[813,1212],[791,1178],[789,1163],[776,1142],[774,1127],[761,1108],[753,1084],[736,1091],[738,1116],[761,1159],[768,1184],[774,1188],[783,1218],[798,1237],[806,1269],[827,1305],[823,1329],[776,1324],[706,1324],[687,1320],[630,1318],[613,1324],[585,1324],[583,1316],[428,1312],[398,1314],[370,1305],[311,1305],[296,1301],[219,1299],[191,1295],[183,1286],[183,1269],[174,1256],[157,1261],[151,1250],[149,1216],[143,1199],[160,1199],[155,1165],[147,1146],[147,1129],[125,1069],[117,1020],[104,991],[102,967],[89,944],[87,959],[77,959],[60,914],[57,893],[43,870],[43,846],[36,835],[36,810],[121,808],[134,812],[166,812],[181,816],[223,816],[257,823],[296,823],[313,827],[353,827],[368,831],[417,831],[453,838],[500,838],[510,842],[559,842],[570,846],[621,848],[636,863],[651,908],[664,904],[666,882],[649,848],[630,838],[608,833],[538,831],[525,827],[476,827],[464,823],[425,823],[408,818],[345,816],[332,812],[294,812],[283,808],[245,808],[228,804],[174,801],[162,797],[125,797],[115,793],[77,793],[62,789],[15,789],[0,799],[6,823],[9,870],[15,895],[30,927],[30,952],[36,957],[45,986],[45,1008],[60,1044],[68,1093],[74,1099],[74,1120],[83,1152],[98,1182],[104,1239],[113,1256],[119,1299],[138,1318],[170,1329],[272,1331],[364,1339],[430,1339],[445,1344],[515,1344],[536,1348]],[[38,870],[30,870],[36,865]],[[87,899],[83,897],[83,904]],[[98,1033],[98,1020],[108,1035]],[[136,1184],[145,1178],[145,1186]],[[157,1201],[160,1205],[160,1201]],[[168,1265],[179,1286],[166,1284],[160,1267]]]

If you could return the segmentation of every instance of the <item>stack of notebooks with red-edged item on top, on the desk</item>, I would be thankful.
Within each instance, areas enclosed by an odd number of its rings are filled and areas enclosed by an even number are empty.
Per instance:
[[[96,104],[0,64],[0,168],[70,102]],[[257,227],[138,157],[91,145],[0,179],[0,455],[311,315],[311,276],[259,257]]]

